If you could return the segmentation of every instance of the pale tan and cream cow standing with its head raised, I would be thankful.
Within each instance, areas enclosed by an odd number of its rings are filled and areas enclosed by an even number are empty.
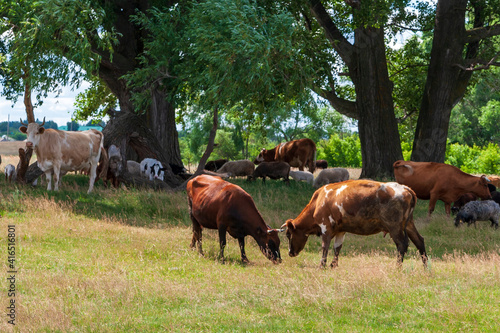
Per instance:
[[[79,171],[85,168],[90,170],[88,193],[94,188],[97,176],[97,165],[101,154],[107,170],[108,156],[103,147],[104,136],[101,132],[91,129],[82,132],[60,131],[45,129],[45,118],[42,124],[35,122],[24,124],[21,120],[19,130],[25,133],[26,147],[33,148],[36,154],[38,167],[47,178],[47,190],[52,190],[52,176],[54,176],[54,190],[59,190],[59,181],[68,171]],[[101,177],[104,175],[101,175]]]

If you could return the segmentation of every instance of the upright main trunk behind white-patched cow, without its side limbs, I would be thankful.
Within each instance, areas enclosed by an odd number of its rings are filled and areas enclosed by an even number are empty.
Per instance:
[[[356,90],[362,178],[393,177],[392,164],[403,158],[385,56],[384,31],[355,31],[357,52],[349,66]]]

